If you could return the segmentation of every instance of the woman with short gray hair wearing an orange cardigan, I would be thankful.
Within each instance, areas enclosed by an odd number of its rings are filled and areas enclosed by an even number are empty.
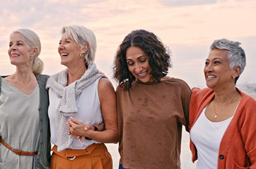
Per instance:
[[[190,149],[197,169],[256,168],[256,101],[236,88],[245,67],[239,42],[215,40],[205,61],[208,88],[193,88]]]

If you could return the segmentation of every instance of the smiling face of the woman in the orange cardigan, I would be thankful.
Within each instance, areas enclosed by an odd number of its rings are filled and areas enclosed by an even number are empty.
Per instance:
[[[229,67],[228,51],[213,49],[205,61],[204,77],[206,85],[213,90],[233,86],[233,76],[238,76],[235,70]]]

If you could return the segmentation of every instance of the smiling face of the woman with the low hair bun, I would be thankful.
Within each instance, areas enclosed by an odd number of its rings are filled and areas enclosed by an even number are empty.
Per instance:
[[[20,33],[13,33],[10,36],[8,54],[10,57],[11,64],[19,65],[28,65],[32,66],[32,60],[29,60],[30,55],[35,56],[35,52],[31,49],[27,42],[26,38]]]

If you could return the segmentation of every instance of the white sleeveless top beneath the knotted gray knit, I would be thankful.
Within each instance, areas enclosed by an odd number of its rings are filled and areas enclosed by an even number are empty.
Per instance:
[[[98,95],[99,80],[100,78],[95,80],[91,85],[86,87],[81,94],[76,97],[76,106],[78,112],[72,117],[79,121],[82,121],[84,124],[95,125],[102,122],[100,99]],[[49,90],[49,101],[50,104],[48,108],[48,115],[50,119],[51,142],[52,144],[56,145],[56,108],[59,105],[61,99],[51,88]],[[73,137],[73,142],[68,147],[68,149],[85,149],[93,143],[100,143],[95,140],[86,140],[84,137],[83,139],[84,142],[82,143],[80,140],[77,140]]]

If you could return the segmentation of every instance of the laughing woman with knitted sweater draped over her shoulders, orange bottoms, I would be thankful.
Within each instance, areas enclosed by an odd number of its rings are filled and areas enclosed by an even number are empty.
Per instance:
[[[110,169],[112,159],[103,143],[118,141],[116,95],[93,63],[95,35],[84,26],[65,26],[58,52],[67,69],[52,75],[46,86],[54,144],[51,169]],[[105,130],[95,131],[103,119]]]

